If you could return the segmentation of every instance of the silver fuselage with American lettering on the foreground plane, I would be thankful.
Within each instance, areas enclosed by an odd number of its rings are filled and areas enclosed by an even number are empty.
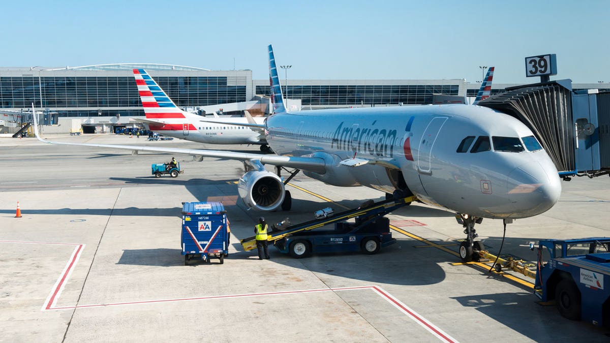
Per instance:
[[[458,153],[468,136],[523,137],[533,133],[509,115],[480,106],[402,106],[282,113],[267,118],[267,142],[278,154],[325,159],[324,174],[307,176],[336,186],[392,192],[403,184],[420,200],[487,218],[531,217],[561,193],[558,171],[540,149]],[[476,145],[473,144],[473,146]],[[491,145],[491,144],[490,144]],[[358,167],[350,158],[369,160]],[[399,173],[400,171],[400,173]]]

